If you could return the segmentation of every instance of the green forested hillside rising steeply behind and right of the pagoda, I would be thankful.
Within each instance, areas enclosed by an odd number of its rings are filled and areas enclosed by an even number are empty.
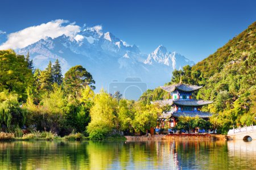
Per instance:
[[[255,42],[256,22],[195,66],[175,70],[171,82],[167,84],[178,83],[180,75],[183,75],[183,83],[203,85],[197,98],[214,101],[204,109],[214,113],[211,122],[219,126],[222,133],[233,125],[255,124]],[[141,100],[152,94],[160,93],[158,89],[144,93]],[[163,95],[154,97],[156,100],[162,98]]]

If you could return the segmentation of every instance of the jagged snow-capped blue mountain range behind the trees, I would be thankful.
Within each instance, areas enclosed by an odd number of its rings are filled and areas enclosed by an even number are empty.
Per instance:
[[[143,54],[138,46],[128,45],[110,32],[104,33],[99,26],[85,28],[73,37],[46,37],[16,52],[24,55],[30,52],[34,66],[42,70],[49,61],[55,62],[56,59],[59,59],[63,73],[72,66],[82,65],[93,75],[96,91],[101,87],[109,90],[112,80],[121,81],[118,86],[127,86],[122,87],[125,90],[133,84],[133,87],[139,88],[138,83],[145,83],[147,88],[155,88],[170,81],[174,69],[194,64],[176,52],[168,52],[163,45],[151,54]],[[141,78],[142,82],[131,81],[129,85],[123,82],[128,77]],[[130,99],[138,99],[145,89],[139,92],[135,92],[135,89],[117,90],[123,94],[135,94],[136,97]]]

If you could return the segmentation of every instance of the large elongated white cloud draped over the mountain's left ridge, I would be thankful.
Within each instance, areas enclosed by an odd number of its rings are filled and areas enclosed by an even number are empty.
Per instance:
[[[68,20],[57,19],[48,23],[24,28],[18,32],[10,33],[7,36],[7,41],[0,45],[0,49],[24,48],[45,37],[54,39],[63,34],[74,37],[79,31],[80,27],[75,25],[75,23],[69,23]]]

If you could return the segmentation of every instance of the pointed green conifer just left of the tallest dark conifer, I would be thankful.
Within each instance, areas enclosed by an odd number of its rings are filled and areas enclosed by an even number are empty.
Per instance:
[[[52,62],[49,61],[49,64],[46,70],[41,72],[39,76],[40,89],[42,90],[52,90],[53,84],[53,75],[52,75]]]

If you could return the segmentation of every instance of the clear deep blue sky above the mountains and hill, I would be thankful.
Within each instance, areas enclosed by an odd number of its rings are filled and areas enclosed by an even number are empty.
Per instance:
[[[143,53],[162,44],[195,62],[256,20],[256,1],[11,1],[2,0],[0,30],[9,33],[64,19],[136,44]],[[0,33],[0,42],[5,41]]]

